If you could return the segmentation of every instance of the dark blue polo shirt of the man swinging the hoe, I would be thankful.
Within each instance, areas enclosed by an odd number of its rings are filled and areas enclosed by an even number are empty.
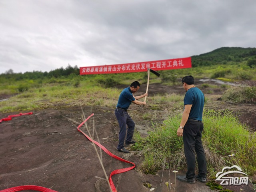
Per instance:
[[[129,108],[130,104],[132,103],[132,101],[135,101],[135,98],[132,95],[131,88],[127,87],[124,90],[122,90],[116,107],[120,107],[120,108],[127,110]]]

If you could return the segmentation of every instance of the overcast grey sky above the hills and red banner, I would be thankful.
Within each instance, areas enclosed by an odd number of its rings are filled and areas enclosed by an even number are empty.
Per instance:
[[[256,47],[256,0],[0,0],[0,74]]]

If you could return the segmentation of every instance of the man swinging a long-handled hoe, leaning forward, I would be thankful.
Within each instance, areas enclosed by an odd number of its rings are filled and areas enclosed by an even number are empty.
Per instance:
[[[130,153],[126,148],[124,148],[124,140],[127,145],[136,143],[135,141],[132,141],[135,123],[128,114],[127,109],[129,108],[132,102],[136,105],[146,105],[146,101],[141,102],[138,101],[138,99],[147,96],[148,93],[136,97],[133,96],[133,93],[136,93],[139,90],[139,88],[140,83],[138,81],[132,82],[130,87],[127,87],[124,90],[122,90],[118,99],[118,103],[116,105],[115,115],[120,127],[119,144],[117,146],[117,150],[120,152]],[[126,126],[128,126],[128,128]]]

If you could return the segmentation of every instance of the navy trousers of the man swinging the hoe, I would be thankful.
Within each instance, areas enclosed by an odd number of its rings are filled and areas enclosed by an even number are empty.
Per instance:
[[[124,148],[124,141],[132,140],[135,123],[126,110],[116,108],[115,115],[120,128],[119,144],[117,146],[117,149],[120,150]],[[127,136],[126,136],[126,132],[127,132]]]

